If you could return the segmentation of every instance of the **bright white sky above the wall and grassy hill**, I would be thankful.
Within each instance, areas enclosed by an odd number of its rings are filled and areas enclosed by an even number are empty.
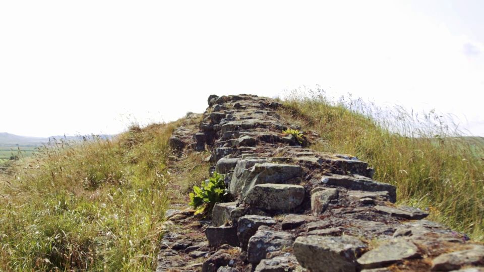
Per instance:
[[[0,132],[117,133],[302,85],[484,136],[484,1],[2,1]]]

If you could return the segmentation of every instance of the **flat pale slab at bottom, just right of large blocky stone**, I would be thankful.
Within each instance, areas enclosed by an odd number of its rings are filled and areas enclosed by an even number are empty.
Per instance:
[[[366,252],[357,261],[364,268],[379,268],[418,256],[418,248],[412,242],[398,239]]]

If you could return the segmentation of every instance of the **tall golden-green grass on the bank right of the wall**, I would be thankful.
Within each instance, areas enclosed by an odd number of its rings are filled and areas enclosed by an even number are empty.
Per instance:
[[[435,112],[382,110],[361,100],[331,101],[324,91],[289,94],[282,114],[323,141],[313,148],[369,162],[375,179],[394,184],[400,203],[484,240],[484,141],[461,138]]]

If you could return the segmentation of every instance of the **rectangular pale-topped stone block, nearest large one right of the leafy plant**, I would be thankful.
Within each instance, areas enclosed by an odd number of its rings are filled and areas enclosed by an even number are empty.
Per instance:
[[[244,202],[269,211],[289,212],[304,200],[304,187],[289,184],[259,184],[251,188]]]

